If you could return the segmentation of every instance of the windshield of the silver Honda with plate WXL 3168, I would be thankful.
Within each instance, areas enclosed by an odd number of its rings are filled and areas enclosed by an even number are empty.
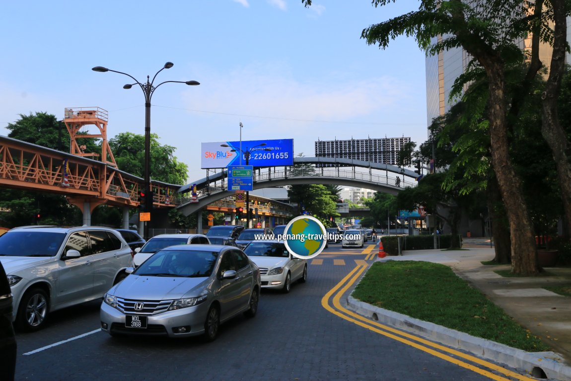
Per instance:
[[[218,252],[160,250],[133,272],[140,276],[207,278],[212,274]]]

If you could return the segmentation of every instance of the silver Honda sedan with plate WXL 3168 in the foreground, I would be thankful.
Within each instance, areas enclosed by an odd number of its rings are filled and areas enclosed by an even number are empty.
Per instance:
[[[258,311],[260,270],[236,247],[170,246],[128,271],[101,304],[101,329],[112,336],[204,335],[212,341],[224,321]]]

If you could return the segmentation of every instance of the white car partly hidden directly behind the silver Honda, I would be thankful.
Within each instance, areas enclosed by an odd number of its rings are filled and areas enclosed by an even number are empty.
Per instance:
[[[307,280],[307,260],[296,258],[278,240],[252,241],[244,252],[260,268],[262,288],[278,288],[289,292],[292,282]]]

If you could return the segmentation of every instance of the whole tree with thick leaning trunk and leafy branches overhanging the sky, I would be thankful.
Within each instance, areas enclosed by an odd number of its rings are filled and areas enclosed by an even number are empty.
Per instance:
[[[564,0],[555,0],[564,2]],[[311,0],[302,0],[305,6]],[[384,6],[391,0],[373,0],[375,7]],[[549,2],[545,2],[549,3]],[[414,36],[421,49],[435,55],[440,51],[462,47],[473,58],[473,63],[482,67],[488,79],[488,120],[491,162],[496,174],[498,189],[506,206],[511,233],[512,272],[536,274],[540,268],[536,259],[532,222],[522,191],[521,178],[514,170],[509,154],[508,113],[518,114],[519,99],[510,104],[505,97],[504,56],[519,50],[513,43],[534,29],[534,38],[549,38],[546,14],[541,13],[541,0],[535,9],[526,13],[521,1],[493,0],[485,7],[473,9],[462,0],[421,2],[418,11],[369,26],[361,33],[369,45],[386,48],[391,39],[399,35]],[[529,6],[529,3],[524,3]],[[532,3],[532,6],[534,4]],[[561,5],[561,10],[565,7]],[[531,14],[531,16],[528,16]],[[563,22],[564,23],[564,22]],[[545,33],[544,33],[545,32]],[[537,40],[538,41],[538,40]],[[538,47],[538,43],[536,45]],[[560,56],[559,59],[563,59]],[[533,78],[540,67],[529,66],[526,79]],[[527,94],[529,81],[522,82],[521,98]],[[554,90],[555,91],[555,90]]]

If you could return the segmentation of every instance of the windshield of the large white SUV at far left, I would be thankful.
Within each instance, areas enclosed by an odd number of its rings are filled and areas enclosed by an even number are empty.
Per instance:
[[[0,235],[2,256],[54,256],[58,254],[65,233],[14,230]]]

